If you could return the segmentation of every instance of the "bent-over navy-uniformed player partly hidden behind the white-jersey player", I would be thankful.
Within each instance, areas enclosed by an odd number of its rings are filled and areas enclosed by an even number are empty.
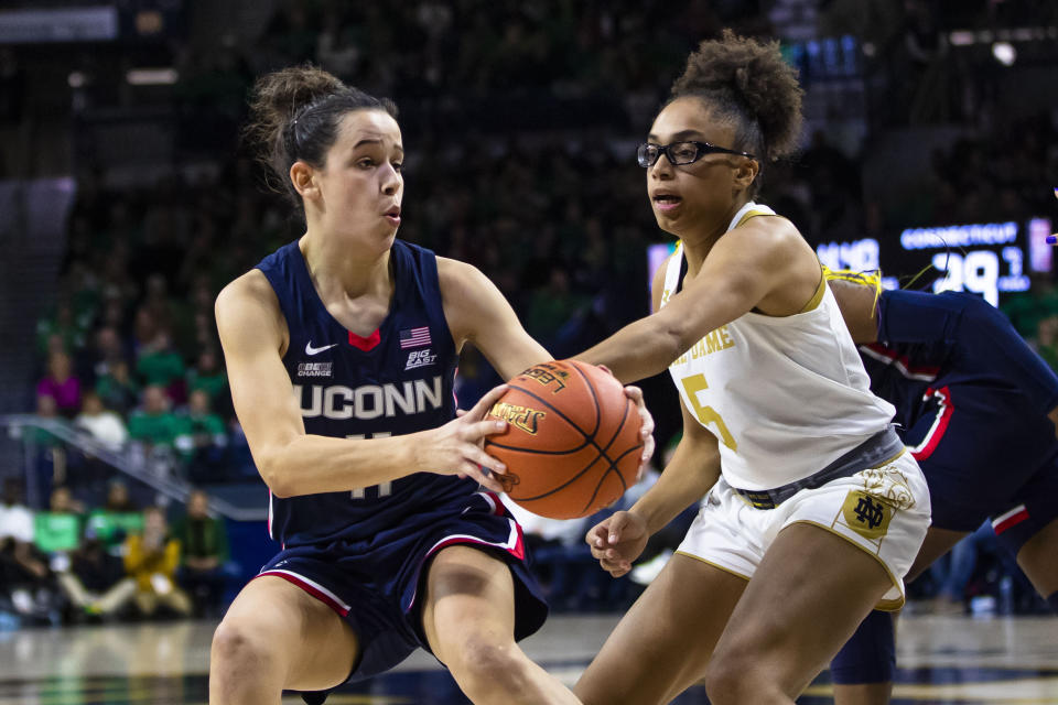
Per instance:
[[[1058,377],[980,296],[882,291],[877,275],[827,273],[871,389],[929,484],[932,525],[915,579],[990,519],[996,540],[1058,611]],[[893,618],[872,612],[831,662],[838,705],[885,705]]]

